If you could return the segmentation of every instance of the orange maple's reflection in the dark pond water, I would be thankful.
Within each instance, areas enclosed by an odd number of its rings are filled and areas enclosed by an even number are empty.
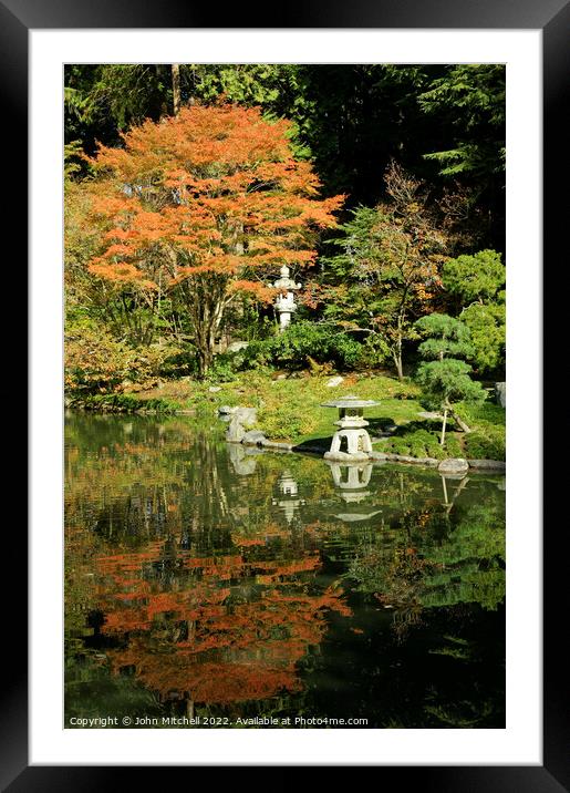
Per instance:
[[[201,703],[301,690],[297,665],[322,640],[327,612],[351,611],[342,589],[317,591],[317,554],[276,562],[253,553],[259,548],[252,546],[251,558],[179,552],[168,591],[143,578],[149,565],[162,564],[159,543],[143,554],[100,557],[102,630],[126,645],[110,650],[112,669],[134,669],[163,698]]]

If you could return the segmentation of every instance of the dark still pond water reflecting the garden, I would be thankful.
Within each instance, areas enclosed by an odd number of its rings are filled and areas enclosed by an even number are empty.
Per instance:
[[[505,727],[505,477],[224,429],[66,416],[65,727]]]

